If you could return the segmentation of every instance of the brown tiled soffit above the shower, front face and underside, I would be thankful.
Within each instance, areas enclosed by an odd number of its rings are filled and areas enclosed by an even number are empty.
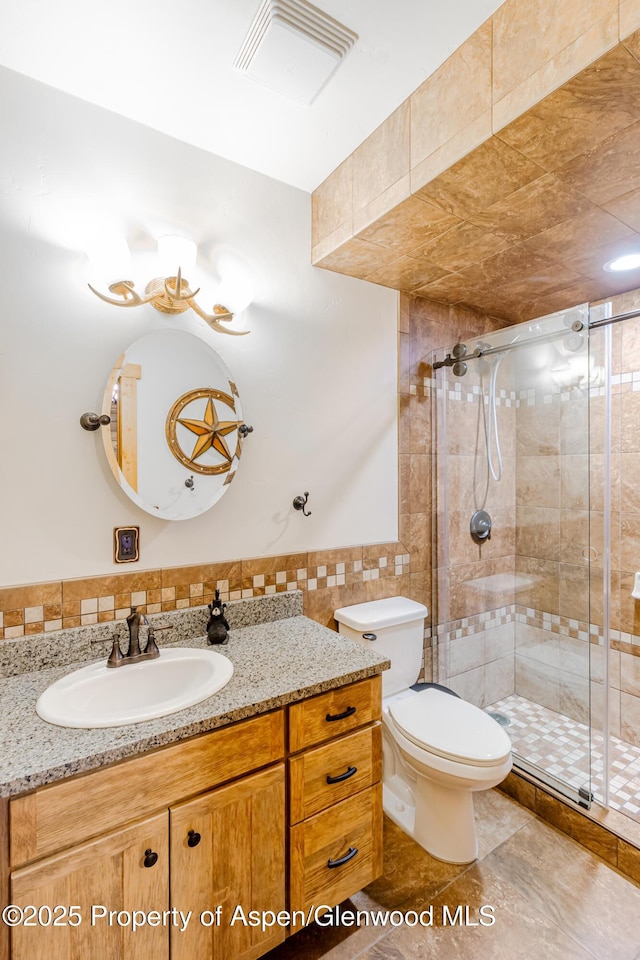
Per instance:
[[[512,322],[624,289],[640,0],[505,0],[313,195],[313,262]]]

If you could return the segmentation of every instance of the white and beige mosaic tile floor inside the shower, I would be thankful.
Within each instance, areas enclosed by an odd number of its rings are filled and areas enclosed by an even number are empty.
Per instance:
[[[563,714],[511,694],[487,707],[510,720],[505,727],[514,752],[541,767],[574,789],[586,785],[589,774],[589,728]],[[609,806],[640,820],[640,747],[611,737],[609,757]],[[596,800],[604,798],[603,738],[591,738],[593,779]]]

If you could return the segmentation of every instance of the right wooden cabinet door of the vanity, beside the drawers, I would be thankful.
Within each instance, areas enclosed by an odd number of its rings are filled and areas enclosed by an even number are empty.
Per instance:
[[[280,943],[284,927],[249,926],[237,908],[284,910],[284,765],[169,812],[171,904],[193,911],[184,933],[171,931],[172,960],[254,960]]]

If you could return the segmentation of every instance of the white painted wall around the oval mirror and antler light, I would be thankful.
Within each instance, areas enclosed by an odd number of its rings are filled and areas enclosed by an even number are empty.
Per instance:
[[[309,195],[4,69],[0,129],[0,583],[396,539],[397,295],[311,267]],[[166,232],[201,265],[217,244],[241,253],[251,333],[97,300],[82,250],[114,227],[140,257]],[[220,353],[254,433],[219,503],[171,522],[123,494],[78,418],[130,343],[178,325]],[[124,524],[142,556],[116,568]]]

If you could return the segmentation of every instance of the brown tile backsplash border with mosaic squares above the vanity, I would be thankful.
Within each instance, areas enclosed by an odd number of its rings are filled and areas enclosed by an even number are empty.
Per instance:
[[[216,589],[225,602],[353,585],[366,592],[410,566],[402,544],[387,543],[0,587],[0,640],[123,620],[132,606],[147,614],[200,607]],[[393,595],[396,583],[388,587]]]

